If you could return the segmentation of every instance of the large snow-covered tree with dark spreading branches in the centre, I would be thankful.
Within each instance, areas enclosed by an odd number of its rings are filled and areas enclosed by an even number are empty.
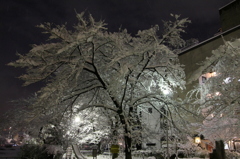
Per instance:
[[[27,54],[18,54],[19,59],[9,63],[26,68],[26,74],[20,76],[24,85],[46,83],[32,103],[28,120],[49,116],[61,123],[84,110],[97,110],[112,120],[115,135],[123,132],[126,158],[131,159],[132,144],[141,138],[139,110],[152,107],[165,115],[162,107],[173,112],[181,109],[164,92],[173,94],[176,88],[185,88],[185,74],[173,52],[184,45],[180,33],[189,20],[172,16],[175,21],[164,22],[163,35],[157,25],[136,36],[121,29],[111,33],[103,21],[95,21],[91,15],[86,19],[84,13],[77,14],[73,30],[65,25],[39,25],[50,41],[33,45]],[[91,113],[88,115],[95,118]]]

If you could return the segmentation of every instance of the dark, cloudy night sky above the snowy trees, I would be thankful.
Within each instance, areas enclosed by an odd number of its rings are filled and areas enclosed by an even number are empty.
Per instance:
[[[39,84],[22,87],[16,79],[22,70],[6,66],[17,59],[16,52],[27,53],[30,44],[44,43],[46,35],[35,26],[43,22],[76,23],[75,10],[103,19],[110,31],[127,28],[129,33],[147,29],[170,13],[188,17],[192,23],[183,36],[199,41],[212,37],[220,26],[218,9],[232,0],[1,0],[0,5],[0,113],[12,107],[9,102],[24,98],[39,89]]]

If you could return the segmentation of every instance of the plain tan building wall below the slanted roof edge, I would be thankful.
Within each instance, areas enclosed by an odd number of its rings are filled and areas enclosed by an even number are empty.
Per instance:
[[[194,75],[194,72],[199,68],[199,64],[212,55],[212,50],[217,49],[225,41],[230,41],[236,38],[240,38],[240,25],[226,32],[219,33],[218,35],[203,41],[195,46],[189,47],[183,50],[179,54],[180,63],[184,65],[186,74],[186,81],[189,83],[189,79]],[[179,94],[179,97],[185,98],[186,93],[197,85],[199,82],[187,84],[187,88],[184,92]]]

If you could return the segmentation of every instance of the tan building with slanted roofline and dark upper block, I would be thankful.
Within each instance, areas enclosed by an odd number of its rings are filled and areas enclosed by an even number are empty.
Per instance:
[[[229,4],[219,8],[221,28],[216,31],[213,37],[185,48],[179,53],[180,63],[185,65],[187,87],[179,97],[184,98],[186,93],[194,86],[204,83],[207,78],[214,76],[213,73],[204,73],[199,76],[195,71],[199,68],[199,63],[212,55],[212,50],[216,50],[224,41],[231,41],[240,38],[240,0],[234,0]],[[197,75],[197,76],[196,76]],[[198,79],[189,82],[192,79]],[[197,131],[193,132],[197,133]]]

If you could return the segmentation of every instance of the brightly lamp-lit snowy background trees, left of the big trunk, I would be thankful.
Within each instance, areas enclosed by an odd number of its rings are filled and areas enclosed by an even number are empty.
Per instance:
[[[94,143],[98,144],[102,139],[111,135],[111,119],[99,110],[99,108],[86,109],[51,116],[45,112],[36,119],[31,120],[34,114],[32,103],[37,97],[14,101],[16,108],[4,115],[3,128],[11,126],[11,134],[24,132],[39,143],[62,145],[66,149],[69,144]],[[17,107],[19,106],[19,107]],[[72,116],[72,117],[71,117]],[[30,119],[29,119],[30,118]]]

